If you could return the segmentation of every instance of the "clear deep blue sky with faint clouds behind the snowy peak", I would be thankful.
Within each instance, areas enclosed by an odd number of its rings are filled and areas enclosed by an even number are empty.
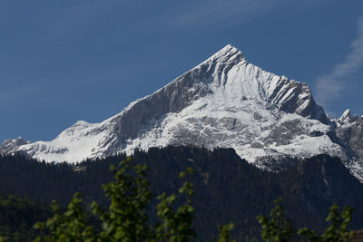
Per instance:
[[[226,44],[363,115],[358,0],[2,0],[0,142],[103,121]]]

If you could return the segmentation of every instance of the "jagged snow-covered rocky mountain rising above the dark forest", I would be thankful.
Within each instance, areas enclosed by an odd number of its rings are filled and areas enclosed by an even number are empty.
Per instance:
[[[360,129],[357,137],[345,134],[350,121]],[[363,142],[361,128],[361,119],[348,113],[330,121],[306,83],[265,72],[227,45],[108,120],[77,121],[52,141],[19,143],[3,152],[74,162],[155,146],[195,145],[234,148],[262,169],[271,169],[266,158],[328,153],[354,167],[352,173],[363,180],[357,161],[363,150],[349,143]]]

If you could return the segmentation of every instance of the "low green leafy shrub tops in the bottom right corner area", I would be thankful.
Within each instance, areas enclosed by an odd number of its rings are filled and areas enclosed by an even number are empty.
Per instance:
[[[291,241],[301,236],[304,241],[310,242],[345,242],[354,236],[354,231],[348,229],[353,208],[346,207],[339,215],[339,207],[334,204],[329,208],[329,216],[326,219],[330,226],[322,235],[317,235],[314,230],[309,230],[307,227],[300,228],[296,235],[291,223],[284,218],[280,201],[281,198],[275,200],[276,207],[271,210],[270,218],[257,217],[262,228],[261,237],[265,241]]]

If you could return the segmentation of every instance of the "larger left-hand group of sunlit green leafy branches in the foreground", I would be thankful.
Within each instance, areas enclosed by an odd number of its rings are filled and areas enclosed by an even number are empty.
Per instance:
[[[110,199],[108,210],[103,210],[93,201],[93,216],[101,224],[99,231],[87,225],[87,217],[82,209],[82,199],[76,193],[68,209],[62,213],[59,206],[53,205],[54,217],[46,222],[38,222],[35,228],[44,232],[35,241],[190,241],[196,237],[191,228],[194,208],[191,197],[194,190],[190,182],[184,182],[179,189],[179,196],[185,202],[175,208],[180,198],[175,194],[167,196],[163,193],[158,197],[157,215],[160,222],[151,225],[146,209],[152,198],[149,182],[146,179],[146,165],[132,165],[132,160],[123,160],[120,169],[111,168],[114,181],[104,185],[103,190]],[[180,178],[185,179],[192,174],[191,168],[181,172]],[[224,240],[229,241],[232,226],[221,229]]]

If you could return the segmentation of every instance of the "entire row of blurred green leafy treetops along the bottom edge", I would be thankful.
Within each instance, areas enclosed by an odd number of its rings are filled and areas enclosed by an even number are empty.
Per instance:
[[[98,227],[89,225],[88,216],[83,211],[83,199],[79,193],[62,213],[55,203],[52,206],[54,217],[46,222],[38,222],[35,228],[42,231],[42,236],[35,241],[174,241],[183,242],[197,238],[192,229],[194,208],[191,197],[194,190],[190,182],[184,182],[178,194],[158,196],[157,216],[159,222],[152,224],[146,210],[151,202],[152,193],[146,179],[146,165],[132,164],[131,159],[123,160],[119,169],[111,167],[114,181],[103,185],[103,190],[110,200],[110,206],[104,210],[93,201],[92,214]],[[181,172],[185,179],[193,173],[191,168]],[[181,200],[183,203],[181,204]],[[301,228],[296,233],[291,223],[284,218],[280,200],[275,201],[276,208],[270,212],[270,218],[258,216],[261,225],[261,237],[265,241],[347,241],[353,232],[348,230],[352,208],[344,208],[341,216],[338,206],[330,208],[327,221],[331,223],[326,231],[318,236],[313,230]],[[177,204],[181,204],[176,208]],[[219,226],[219,242],[231,241],[234,224]],[[1,241],[1,238],[0,238]]]

